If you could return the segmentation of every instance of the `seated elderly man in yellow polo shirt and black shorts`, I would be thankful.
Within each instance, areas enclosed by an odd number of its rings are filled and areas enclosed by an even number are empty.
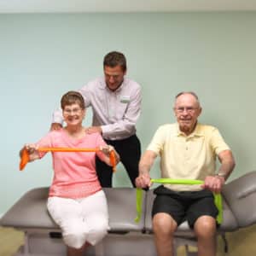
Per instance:
[[[187,219],[197,236],[198,255],[213,256],[218,209],[212,192],[221,191],[235,160],[218,129],[198,123],[201,105],[194,92],[179,93],[173,110],[177,123],[162,125],[155,132],[139,163],[137,187],[151,185],[149,170],[158,155],[161,177],[204,180],[203,185],[170,184],[154,190],[154,241],[159,256],[172,255],[174,232]],[[218,170],[216,156],[220,161]]]

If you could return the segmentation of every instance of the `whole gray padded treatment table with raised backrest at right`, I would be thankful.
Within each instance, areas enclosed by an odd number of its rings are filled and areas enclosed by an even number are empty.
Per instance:
[[[50,218],[46,209],[49,188],[28,191],[13,207],[3,215],[0,225],[13,227],[25,232],[24,246],[16,256],[60,256],[65,255],[66,247],[61,240],[61,230]],[[152,232],[151,210],[154,200],[153,190],[143,190],[143,211],[140,222],[134,221],[136,212],[136,189],[104,189],[108,200],[108,235],[95,247],[89,247],[89,256],[156,256]],[[256,223],[256,172],[236,178],[224,185],[222,191],[224,221],[218,228],[223,236]],[[174,246],[196,246],[193,230],[187,222],[181,224],[175,233]],[[176,250],[174,250],[176,253]],[[85,255],[85,254],[84,254]],[[196,253],[189,252],[192,256]]]

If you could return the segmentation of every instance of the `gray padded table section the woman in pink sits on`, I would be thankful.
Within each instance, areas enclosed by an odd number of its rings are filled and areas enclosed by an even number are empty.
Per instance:
[[[18,229],[58,229],[47,212],[46,202],[49,188],[28,191],[3,215],[0,224]],[[104,189],[109,211],[109,225],[112,231],[141,231],[144,226],[144,212],[137,224],[136,189]],[[145,193],[143,191],[143,198]],[[145,200],[143,200],[145,201]]]

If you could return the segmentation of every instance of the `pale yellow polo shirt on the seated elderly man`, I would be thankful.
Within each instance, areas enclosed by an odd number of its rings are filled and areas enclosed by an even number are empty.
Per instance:
[[[201,180],[215,173],[216,156],[227,149],[230,148],[217,128],[197,124],[187,137],[177,123],[161,125],[147,148],[160,155],[161,177]],[[166,184],[165,187],[176,191],[201,190],[201,185]]]

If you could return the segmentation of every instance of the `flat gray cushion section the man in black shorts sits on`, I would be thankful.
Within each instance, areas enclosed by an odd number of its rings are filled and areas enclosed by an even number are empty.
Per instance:
[[[151,212],[153,207],[153,201],[154,201],[154,193],[153,189],[148,191],[148,194],[146,196],[146,218],[145,218],[145,229],[148,232],[152,232],[152,218],[151,218]],[[224,221],[220,225],[219,229],[220,231],[233,231],[238,229],[238,224],[236,222],[236,218],[234,217],[234,214],[230,211],[230,207],[227,205],[226,201],[223,198],[223,217]],[[189,236],[193,234],[193,231],[189,229],[189,224],[187,222],[184,222],[183,224],[179,225],[177,228],[177,232],[175,236],[183,236],[183,234],[186,234],[186,236]]]

